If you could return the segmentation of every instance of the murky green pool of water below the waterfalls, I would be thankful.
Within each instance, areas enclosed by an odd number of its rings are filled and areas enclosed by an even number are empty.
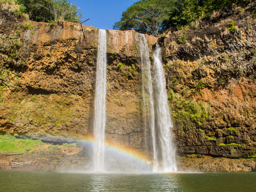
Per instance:
[[[82,174],[0,171],[0,191],[256,191],[256,173]]]

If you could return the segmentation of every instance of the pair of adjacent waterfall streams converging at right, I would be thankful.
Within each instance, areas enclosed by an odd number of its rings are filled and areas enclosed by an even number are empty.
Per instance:
[[[154,49],[153,52],[155,68],[154,82],[156,87],[155,113],[151,77],[151,62],[147,47],[147,41],[144,34],[139,34],[138,37],[140,43],[140,56],[142,68],[141,76],[143,105],[145,116],[147,116],[149,119],[152,135],[154,164],[153,172],[176,172],[177,166],[175,160],[175,147],[173,146],[172,136],[173,122],[170,116],[169,106],[167,102],[165,75],[161,62],[161,48],[159,45],[156,45],[156,48]],[[156,122],[155,117],[157,117]],[[158,129],[156,129],[156,125]],[[158,143],[160,146],[157,146]],[[160,155],[161,157],[159,157]],[[161,161],[159,159],[161,159]]]

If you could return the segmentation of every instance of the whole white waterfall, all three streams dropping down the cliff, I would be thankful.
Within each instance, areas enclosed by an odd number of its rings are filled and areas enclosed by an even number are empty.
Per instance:
[[[172,118],[167,103],[167,92],[163,66],[161,62],[161,48],[155,46],[154,77],[151,73],[151,62],[146,38],[138,34],[140,56],[142,95],[144,105],[144,116],[148,118],[152,136],[153,169],[157,172],[176,172],[175,148],[172,138]],[[155,92],[153,94],[153,82]],[[154,103],[155,96],[155,103]],[[105,132],[105,97],[106,97],[106,31],[99,30],[97,70],[96,70],[96,92],[95,92],[95,118],[93,145],[93,171],[104,172],[104,132]],[[155,112],[156,109],[156,112]]]

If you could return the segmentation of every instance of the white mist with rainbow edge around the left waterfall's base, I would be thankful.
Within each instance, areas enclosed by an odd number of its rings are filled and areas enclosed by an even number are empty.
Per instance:
[[[118,145],[104,145],[103,170],[95,170],[94,167],[94,140],[80,140],[77,144],[84,148],[87,154],[88,163],[83,169],[74,169],[66,173],[83,174],[112,174],[112,173],[151,173],[153,168],[151,161],[148,161],[143,153],[132,148]]]

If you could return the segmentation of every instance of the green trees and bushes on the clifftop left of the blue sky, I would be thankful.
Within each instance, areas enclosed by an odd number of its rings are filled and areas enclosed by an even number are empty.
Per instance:
[[[82,14],[78,13],[75,3],[69,0],[18,0],[26,7],[31,20],[36,22],[67,22],[80,23]]]

